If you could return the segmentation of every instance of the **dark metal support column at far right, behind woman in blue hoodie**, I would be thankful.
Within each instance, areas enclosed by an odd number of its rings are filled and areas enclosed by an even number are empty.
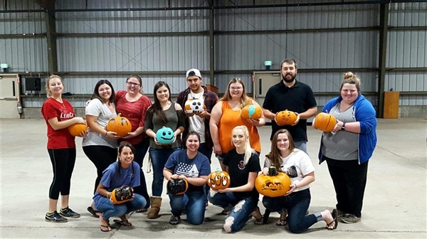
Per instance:
[[[379,118],[384,117],[384,85],[386,78],[387,31],[389,27],[389,4],[379,6],[379,73],[378,73],[378,111]]]

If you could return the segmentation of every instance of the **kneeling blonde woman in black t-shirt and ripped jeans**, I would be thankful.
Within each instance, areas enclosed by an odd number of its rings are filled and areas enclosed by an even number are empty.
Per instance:
[[[211,190],[208,197],[212,204],[231,210],[223,225],[227,233],[241,230],[255,209],[259,214],[259,194],[255,189],[255,179],[261,170],[259,157],[251,148],[246,126],[234,127],[231,141],[236,148],[231,149],[223,160],[225,171],[230,174],[230,187]],[[262,220],[262,217],[258,219]]]

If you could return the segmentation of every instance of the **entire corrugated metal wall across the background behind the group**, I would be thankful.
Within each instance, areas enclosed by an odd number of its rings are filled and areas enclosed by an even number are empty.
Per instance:
[[[13,3],[11,3],[13,2]],[[256,4],[296,4],[300,1],[255,1]],[[332,1],[330,1],[332,2]],[[86,6],[88,4],[88,6]],[[157,0],[57,0],[56,9],[104,9],[58,11],[56,31],[59,72],[112,72],[104,76],[64,75],[68,91],[90,94],[93,85],[107,78],[120,90],[125,76],[120,71],[174,71],[179,75],[144,75],[144,91],[152,93],[158,80],[166,80],[172,93],[184,90],[189,68],[209,71],[208,1]],[[218,6],[251,5],[253,1],[216,1]],[[10,9],[40,9],[32,0],[8,1]],[[158,8],[183,7],[167,11]],[[0,0],[0,9],[4,0]],[[115,11],[117,9],[150,11]],[[157,10],[154,10],[156,9]],[[390,26],[427,26],[426,3],[389,4]],[[111,9],[111,11],[110,11]],[[272,70],[284,58],[297,60],[297,78],[315,92],[337,92],[342,73],[353,70],[362,79],[364,92],[378,90],[379,5],[292,6],[259,9],[215,10],[216,85],[224,92],[228,80],[240,77],[252,91],[251,71]],[[44,13],[0,14],[0,34],[46,33]],[[343,28],[337,30],[334,28]],[[347,28],[347,29],[346,29]],[[314,31],[313,29],[317,30]],[[327,29],[327,30],[325,30]],[[241,32],[251,31],[251,32]],[[175,33],[174,36],[82,36],[73,33]],[[426,68],[427,43],[423,29],[389,29],[386,68]],[[16,72],[48,72],[46,38],[0,38],[0,60]],[[342,69],[336,70],[336,68]],[[307,71],[304,71],[307,70]],[[328,69],[332,69],[329,70]],[[371,70],[369,70],[371,69]],[[223,73],[221,73],[223,71]],[[235,71],[236,73],[229,73]],[[245,73],[243,73],[245,72]],[[205,83],[209,83],[209,75]],[[385,88],[427,91],[427,73],[389,70]],[[317,97],[323,105],[330,97]],[[376,97],[369,96],[376,105]],[[28,102],[28,105],[29,102]],[[39,105],[34,102],[33,106]],[[401,97],[401,105],[427,105],[426,96]]]

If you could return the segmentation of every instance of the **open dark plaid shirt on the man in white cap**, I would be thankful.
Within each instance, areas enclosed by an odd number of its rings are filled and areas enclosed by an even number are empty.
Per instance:
[[[208,88],[206,88],[206,86],[202,85],[201,86],[204,89],[203,92],[203,98],[204,98],[204,105],[206,106],[206,110],[211,113],[212,108],[214,108],[216,102],[218,101],[218,95],[216,95],[214,92],[211,92],[211,90],[208,90]],[[186,90],[182,91],[179,93],[178,95],[178,99],[176,99],[176,102],[181,105],[181,107],[184,109],[185,108],[185,102],[186,100],[188,100],[189,97],[189,93],[190,93],[190,88],[186,88]],[[211,131],[209,130],[209,119],[204,119],[204,123],[205,123],[205,137],[206,137],[206,148],[210,148],[210,147],[214,147],[214,142],[212,142],[212,137],[211,137]],[[184,133],[182,133],[182,144],[183,147],[185,147],[185,142],[184,139],[186,138],[186,135],[189,133],[189,117],[185,118],[185,129],[184,129]]]

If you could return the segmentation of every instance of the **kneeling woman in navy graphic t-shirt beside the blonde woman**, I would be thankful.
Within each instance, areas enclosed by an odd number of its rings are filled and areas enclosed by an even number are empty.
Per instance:
[[[176,225],[181,221],[181,213],[186,210],[187,222],[199,225],[204,221],[206,209],[206,193],[204,186],[211,173],[209,159],[198,152],[200,136],[189,132],[185,139],[186,149],[175,151],[164,164],[163,175],[171,179],[185,179],[189,188],[186,193],[172,195],[169,193],[172,217],[169,223]]]

